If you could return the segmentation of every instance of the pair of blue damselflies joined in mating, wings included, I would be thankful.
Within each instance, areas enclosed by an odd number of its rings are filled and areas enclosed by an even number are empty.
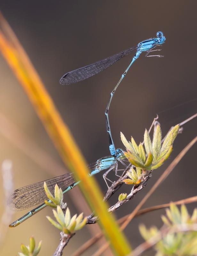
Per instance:
[[[107,184],[107,180],[110,181],[106,176],[111,170],[115,170],[115,174],[117,174],[118,170],[118,162],[121,162],[124,166],[123,161],[125,161],[125,156],[123,153],[123,150],[121,148],[115,149],[114,142],[112,139],[111,129],[109,125],[109,107],[111,104],[112,97],[114,95],[115,90],[117,89],[118,85],[122,82],[122,79],[126,76],[129,68],[133,64],[135,60],[138,59],[140,54],[142,52],[146,52],[146,57],[163,57],[162,55],[149,55],[150,52],[154,51],[160,51],[161,49],[154,49],[155,47],[162,45],[165,42],[165,37],[163,36],[162,32],[157,32],[156,37],[145,40],[140,42],[137,46],[131,47],[127,50],[124,50],[122,52],[119,52],[117,54],[114,54],[113,56],[110,56],[106,59],[97,61],[95,63],[92,63],[88,66],[85,66],[83,68],[75,69],[71,72],[66,73],[62,78],[60,79],[60,84],[73,84],[80,82],[86,78],[89,78],[91,76],[94,76],[98,74],[99,72],[103,71],[104,69],[112,66],[114,63],[116,63],[118,60],[122,59],[123,57],[127,56],[133,51],[135,52],[134,57],[132,58],[128,68],[125,70],[125,72],[122,74],[120,80],[114,87],[114,90],[110,94],[109,101],[107,103],[105,116],[106,116],[106,131],[108,134],[108,142],[109,142],[109,150],[110,150],[110,156],[100,158],[95,163],[90,164],[88,167],[90,169],[90,176],[99,173],[103,170],[107,170],[103,174],[103,178]],[[154,49],[154,50],[153,50]],[[63,193],[66,193],[73,187],[75,187],[80,181],[75,181],[72,173],[66,173],[61,176],[45,180],[46,184],[51,192],[54,190],[55,184],[57,184],[63,191]],[[8,204],[10,205],[11,209],[14,211],[21,211],[24,209],[27,209],[29,207],[32,207],[34,205],[42,203],[44,200],[47,199],[47,196],[45,194],[44,188],[43,188],[43,182],[37,182],[32,185],[28,185],[19,189],[16,189],[13,194],[10,196]],[[108,186],[108,184],[107,184]],[[49,200],[50,201],[50,200]],[[39,212],[46,206],[45,203],[42,203],[35,209],[31,210],[27,214],[25,214],[20,219],[14,221],[12,224],[10,224],[10,227],[16,227],[20,223],[22,223],[24,220],[27,220],[29,217],[34,215],[35,213]]]

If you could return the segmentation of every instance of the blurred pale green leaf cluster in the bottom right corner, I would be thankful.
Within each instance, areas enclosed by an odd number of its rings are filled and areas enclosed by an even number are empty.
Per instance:
[[[159,256],[193,256],[197,252],[197,232],[179,232],[178,228],[197,224],[197,209],[194,209],[192,216],[189,215],[185,205],[181,205],[181,210],[175,204],[170,204],[170,209],[166,210],[167,216],[162,216],[164,227],[169,228],[169,232],[155,246],[156,255]],[[170,232],[174,230],[175,232]],[[158,236],[159,230],[156,227],[146,228],[145,225],[139,226],[141,236],[147,241],[154,236]]]

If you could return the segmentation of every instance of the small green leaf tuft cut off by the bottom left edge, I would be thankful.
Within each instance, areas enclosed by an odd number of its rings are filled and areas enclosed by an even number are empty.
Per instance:
[[[39,242],[38,247],[35,248],[35,239],[34,237],[30,237],[29,239],[29,245],[26,246],[24,244],[20,245],[20,249],[22,252],[19,252],[18,255],[19,256],[36,256],[38,255],[38,253],[40,252],[41,249],[41,242]]]

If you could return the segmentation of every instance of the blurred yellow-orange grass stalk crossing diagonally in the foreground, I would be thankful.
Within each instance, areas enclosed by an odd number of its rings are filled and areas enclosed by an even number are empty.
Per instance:
[[[1,18],[0,23],[3,22],[4,20]],[[4,26],[4,28],[6,27]],[[44,88],[40,77],[17,37],[8,26],[6,32],[9,38],[6,38],[0,30],[0,51],[2,55],[26,91],[64,163],[75,173],[76,179],[82,180],[81,188],[83,193],[92,209],[98,214],[100,224],[112,244],[114,253],[117,255],[127,255],[131,251],[130,245],[121,233],[114,217],[107,212],[107,204],[102,200],[103,195],[96,180],[88,176],[87,164],[71,132],[61,119],[51,97]]]

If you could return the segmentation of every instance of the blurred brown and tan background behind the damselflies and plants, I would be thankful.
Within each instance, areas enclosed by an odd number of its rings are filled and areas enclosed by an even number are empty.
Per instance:
[[[165,134],[172,125],[192,116],[197,110],[196,9],[197,2],[193,0],[1,1],[4,17],[27,51],[88,163],[109,154],[104,111],[109,94],[132,55],[78,84],[60,85],[60,77],[163,31],[166,36],[161,51],[164,58],[140,56],[116,91],[109,118],[117,148],[122,147],[120,131],[128,139],[132,135],[137,142],[142,141],[145,128],[149,128],[156,114],[159,114]],[[14,188],[63,173],[63,163],[56,149],[2,56],[0,77],[0,163],[4,159],[12,160]],[[143,191],[116,212],[117,218],[134,209],[172,159],[196,136],[196,124],[197,120],[193,120],[184,125],[184,132],[175,141],[170,160],[154,172]],[[144,206],[196,195],[196,149],[194,145]],[[50,156],[50,161],[45,154]],[[36,157],[40,157],[40,163],[33,160]],[[115,178],[113,174],[111,177]],[[97,180],[105,192],[101,173]],[[2,215],[2,178],[0,182]],[[130,188],[122,186],[109,203],[115,203],[120,192],[128,192]],[[76,193],[65,196],[73,214],[79,213],[83,207],[77,206],[76,197]],[[190,212],[195,206],[188,205]],[[14,213],[12,220],[25,213]],[[139,223],[160,227],[162,213],[164,210],[152,212],[130,223],[125,233],[134,247],[142,242],[138,234]],[[4,234],[0,254],[16,255],[20,243],[28,244],[29,236],[34,235],[37,242],[43,240],[39,255],[52,255],[59,243],[59,231],[50,225],[46,215],[52,215],[51,209],[43,210],[17,228],[0,230]],[[74,252],[93,236],[92,232],[89,227],[78,232],[63,255]],[[96,246],[85,255],[91,255],[95,249]]]

